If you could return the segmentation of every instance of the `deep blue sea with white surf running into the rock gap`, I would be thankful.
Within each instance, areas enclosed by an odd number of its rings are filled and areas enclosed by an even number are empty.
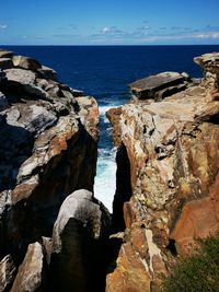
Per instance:
[[[115,192],[115,149],[105,112],[130,98],[127,84],[162,71],[203,75],[193,58],[219,51],[216,46],[7,46],[54,68],[59,80],[93,95],[100,106],[101,139],[94,195],[112,211]]]

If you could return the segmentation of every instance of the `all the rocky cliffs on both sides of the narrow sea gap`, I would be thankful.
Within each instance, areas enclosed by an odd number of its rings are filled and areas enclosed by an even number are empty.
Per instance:
[[[219,54],[203,80],[164,72],[110,109],[111,215],[93,195],[94,97],[0,50],[0,291],[158,291],[176,255],[219,231]]]

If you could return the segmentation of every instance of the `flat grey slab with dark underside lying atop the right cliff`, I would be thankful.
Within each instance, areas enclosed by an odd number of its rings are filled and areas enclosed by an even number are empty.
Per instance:
[[[187,81],[188,78],[185,74],[163,72],[138,80],[129,84],[129,87],[139,100],[153,98],[161,101],[166,96],[185,90]]]

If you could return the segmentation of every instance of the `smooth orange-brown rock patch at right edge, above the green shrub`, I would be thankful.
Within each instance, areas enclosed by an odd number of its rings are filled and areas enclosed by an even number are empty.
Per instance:
[[[187,202],[177,220],[171,238],[176,242],[176,249],[186,254],[195,240],[212,236],[219,231],[219,174],[205,198]]]

